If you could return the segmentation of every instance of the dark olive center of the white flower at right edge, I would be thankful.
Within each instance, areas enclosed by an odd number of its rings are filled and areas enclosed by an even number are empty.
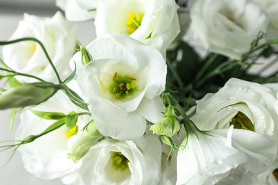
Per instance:
[[[230,122],[230,126],[231,125],[234,125],[235,129],[248,129],[254,131],[253,123],[242,112],[237,112],[237,115],[235,115]]]

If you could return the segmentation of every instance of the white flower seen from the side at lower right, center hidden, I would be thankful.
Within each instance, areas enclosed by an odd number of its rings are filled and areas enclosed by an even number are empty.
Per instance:
[[[272,165],[276,151],[270,136],[249,130],[190,133],[177,154],[177,184],[242,184]]]

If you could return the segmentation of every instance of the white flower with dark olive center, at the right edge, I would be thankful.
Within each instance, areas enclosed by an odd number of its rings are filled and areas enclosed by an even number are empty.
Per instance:
[[[232,78],[217,93],[196,101],[192,121],[201,130],[235,125],[235,128],[275,135],[278,131],[275,102],[276,94],[267,86]]]

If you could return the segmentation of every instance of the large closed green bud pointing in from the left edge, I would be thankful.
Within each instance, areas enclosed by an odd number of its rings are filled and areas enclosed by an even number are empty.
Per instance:
[[[0,95],[0,110],[37,105],[53,96],[58,86],[50,83],[29,83]]]

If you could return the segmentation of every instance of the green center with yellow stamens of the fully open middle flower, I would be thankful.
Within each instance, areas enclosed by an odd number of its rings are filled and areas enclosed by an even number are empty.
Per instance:
[[[115,99],[121,100],[136,90],[136,78],[129,75],[118,75],[116,72],[113,77],[113,84],[110,85],[110,92],[115,95]]]

